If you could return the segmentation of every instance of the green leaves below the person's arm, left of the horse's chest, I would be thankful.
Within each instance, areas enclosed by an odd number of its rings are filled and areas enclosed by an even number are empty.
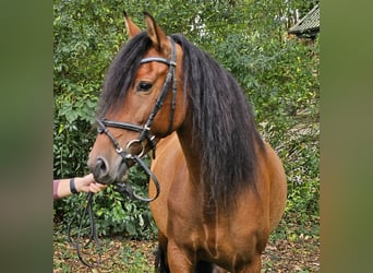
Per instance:
[[[146,175],[136,167],[129,171],[128,182],[140,195],[147,194]],[[71,195],[55,202],[55,221],[63,223],[61,229],[67,229],[73,216],[77,216],[72,228],[77,230],[80,210],[85,207],[87,193]],[[153,221],[148,204],[137,200],[132,200],[115,190],[115,186],[109,186],[106,190],[94,195],[93,211],[98,235],[112,236],[123,235],[132,239],[152,239],[155,237],[157,228]],[[88,227],[89,222],[86,216],[83,227]],[[60,230],[62,232],[62,230]],[[82,229],[83,235],[87,235],[88,228]]]

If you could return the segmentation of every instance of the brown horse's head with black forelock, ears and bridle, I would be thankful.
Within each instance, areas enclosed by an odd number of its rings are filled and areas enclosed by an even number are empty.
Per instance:
[[[106,75],[88,166],[101,183],[123,182],[134,156],[155,150],[185,116],[182,49],[145,13],[146,31],[124,13],[129,43]]]

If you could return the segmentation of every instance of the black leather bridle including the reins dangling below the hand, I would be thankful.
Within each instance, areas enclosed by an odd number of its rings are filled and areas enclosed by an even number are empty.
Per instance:
[[[148,57],[148,58],[142,59],[140,62],[141,64],[144,64],[144,63],[156,61],[156,62],[161,62],[161,63],[169,66],[168,73],[167,73],[166,80],[165,80],[165,84],[164,84],[161,92],[160,92],[160,94],[156,100],[156,104],[153,108],[153,111],[151,112],[149,117],[147,118],[147,121],[145,122],[145,124],[139,126],[139,124],[132,124],[132,123],[128,123],[128,122],[119,122],[119,121],[108,120],[105,118],[96,120],[97,124],[98,124],[97,132],[98,133],[105,133],[110,139],[112,145],[116,149],[116,152],[123,158],[123,161],[131,161],[131,159],[135,161],[147,173],[147,175],[149,175],[152,177],[152,180],[153,180],[153,182],[156,187],[156,190],[157,190],[155,197],[153,197],[153,198],[140,197],[135,192],[133,192],[131,186],[129,186],[127,183],[117,183],[118,190],[120,192],[127,193],[132,198],[135,198],[135,199],[141,200],[141,201],[145,201],[145,202],[151,202],[151,201],[154,201],[155,199],[158,198],[158,195],[159,195],[159,182],[158,182],[157,178],[155,177],[155,175],[152,173],[152,170],[146,166],[146,164],[141,158],[145,153],[145,145],[146,144],[144,143],[144,141],[146,140],[147,143],[149,143],[151,151],[153,151],[153,156],[155,156],[155,149],[157,145],[157,140],[156,140],[156,136],[154,134],[152,134],[152,132],[151,132],[152,123],[153,123],[155,116],[157,115],[157,112],[159,111],[159,109],[164,105],[164,100],[166,98],[168,91],[170,90],[171,82],[172,82],[171,115],[169,117],[169,124],[168,124],[168,129],[167,129],[166,134],[171,133],[172,127],[173,127],[173,116],[175,116],[175,107],[176,107],[176,92],[177,92],[177,81],[176,81],[176,76],[175,76],[177,51],[176,51],[173,39],[171,37],[169,37],[169,40],[171,41],[171,59],[168,60],[168,59],[160,58],[160,57]],[[119,128],[119,129],[123,129],[123,130],[130,130],[130,131],[136,131],[140,133],[140,136],[139,136],[139,139],[130,141],[127,144],[125,149],[123,150],[120,146],[120,144],[118,143],[117,139],[108,130],[109,127]],[[142,145],[142,150],[139,154],[132,154],[131,152],[129,152],[129,151],[131,151],[130,147],[132,145],[135,145],[139,143]],[[71,219],[71,222],[68,226],[68,240],[76,249],[77,257],[81,260],[81,262],[84,263],[85,265],[89,266],[89,268],[94,268],[95,265],[98,265],[101,262],[101,248],[100,248],[100,244],[98,241],[97,230],[96,230],[95,221],[94,221],[93,211],[92,211],[93,198],[94,198],[94,193],[88,192],[86,195],[86,200],[87,200],[86,202],[87,203],[83,207],[83,210],[81,211],[80,227],[79,227],[79,232],[77,232],[77,238],[75,241],[71,238],[71,229],[72,229],[73,223],[75,222],[75,219],[77,219],[76,218],[77,214],[75,214],[73,216],[73,218]],[[88,242],[83,248],[88,247],[88,245],[92,241],[94,241],[96,244],[96,249],[98,252],[98,261],[95,264],[91,264],[83,259],[81,247],[80,247],[82,224],[83,224],[83,219],[85,218],[85,216],[87,214],[89,216],[91,234],[89,234]]]

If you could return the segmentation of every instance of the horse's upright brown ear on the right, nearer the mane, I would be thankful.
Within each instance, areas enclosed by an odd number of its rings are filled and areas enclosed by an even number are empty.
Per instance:
[[[144,14],[147,27],[147,35],[153,41],[153,45],[158,51],[170,51],[168,38],[165,32],[158,26],[158,24],[155,22],[154,17],[149,13],[144,12]]]

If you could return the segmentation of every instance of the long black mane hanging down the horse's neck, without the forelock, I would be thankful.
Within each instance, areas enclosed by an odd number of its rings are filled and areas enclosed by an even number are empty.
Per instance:
[[[255,144],[263,147],[263,141],[252,109],[228,71],[185,37],[171,37],[183,49],[184,90],[201,153],[202,179],[210,183],[214,199],[230,202],[243,185],[255,188]]]

